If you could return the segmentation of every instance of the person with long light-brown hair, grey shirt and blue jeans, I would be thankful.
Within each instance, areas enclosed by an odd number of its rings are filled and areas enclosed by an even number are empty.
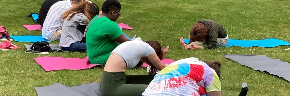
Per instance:
[[[99,7],[90,1],[80,2],[62,15],[64,24],[61,29],[59,46],[65,51],[86,52],[84,32],[88,22],[99,14]]]

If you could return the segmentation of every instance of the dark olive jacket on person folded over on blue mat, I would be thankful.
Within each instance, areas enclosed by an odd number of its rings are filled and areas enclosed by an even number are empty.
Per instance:
[[[211,49],[215,48],[215,45],[217,44],[217,38],[226,38],[227,37],[227,32],[220,25],[218,22],[215,22],[214,20],[200,20],[197,23],[203,23],[207,28],[208,28],[208,34],[206,35],[206,45],[203,45],[204,49]],[[195,42],[190,40],[189,44],[191,42]]]

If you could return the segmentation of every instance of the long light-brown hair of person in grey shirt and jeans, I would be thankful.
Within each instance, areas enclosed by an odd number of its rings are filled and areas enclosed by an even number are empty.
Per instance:
[[[79,13],[85,14],[87,21],[89,22],[92,18],[99,14],[99,7],[95,3],[80,2],[72,9],[66,11],[62,15],[62,19],[66,19],[69,14],[72,14],[68,17],[68,20],[70,20],[70,18],[72,18],[75,14]]]

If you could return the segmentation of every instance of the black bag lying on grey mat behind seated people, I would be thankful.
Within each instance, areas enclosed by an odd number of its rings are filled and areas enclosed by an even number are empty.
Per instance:
[[[46,41],[35,42],[34,44],[32,44],[30,49],[39,52],[53,52],[53,50],[50,48],[49,43]]]

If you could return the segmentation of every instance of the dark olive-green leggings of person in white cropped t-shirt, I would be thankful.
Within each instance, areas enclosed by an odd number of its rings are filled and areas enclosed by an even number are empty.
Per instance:
[[[127,75],[103,71],[101,90],[104,96],[141,96],[153,75]]]

